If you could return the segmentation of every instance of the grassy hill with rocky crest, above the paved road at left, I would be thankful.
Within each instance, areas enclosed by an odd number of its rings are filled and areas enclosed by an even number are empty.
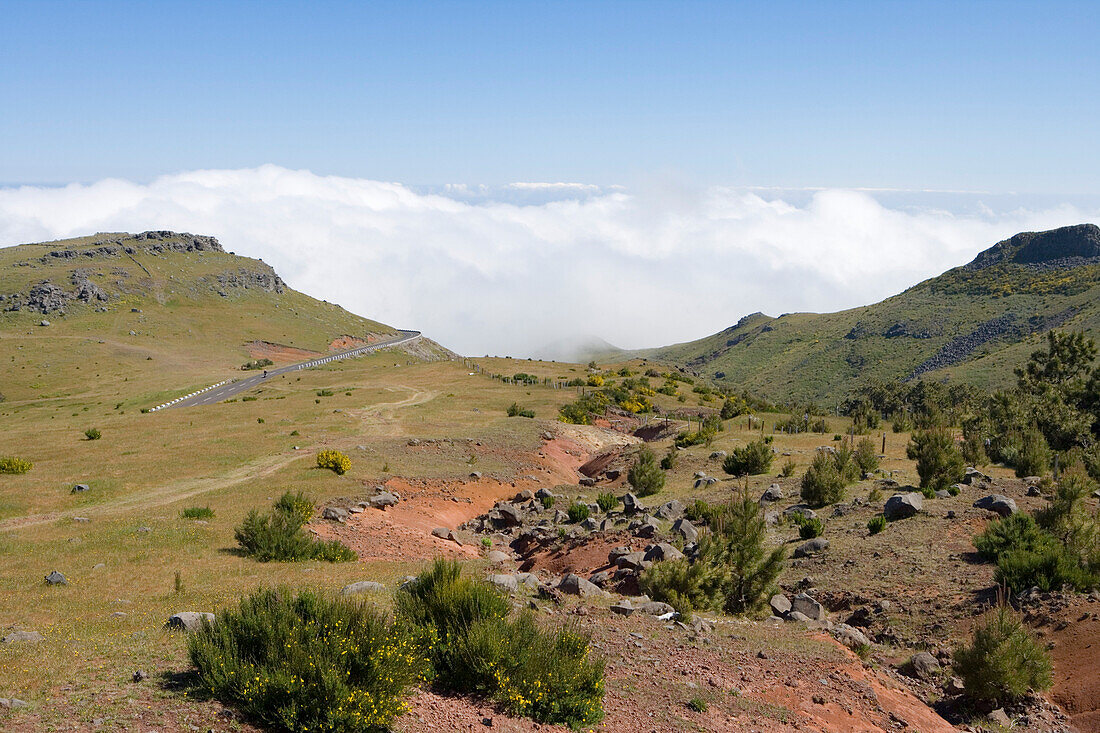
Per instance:
[[[9,405],[109,394],[121,381],[131,382],[121,392],[138,391],[135,403],[155,404],[240,375],[257,355],[296,361],[348,337],[394,332],[287,287],[212,237],[101,233],[0,249]]]

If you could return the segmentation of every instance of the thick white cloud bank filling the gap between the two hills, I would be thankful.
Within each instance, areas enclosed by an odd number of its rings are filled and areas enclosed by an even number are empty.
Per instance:
[[[1100,220],[1100,208],[1069,204],[969,209],[840,189],[417,189],[262,166],[0,188],[0,245],[97,231],[212,234],[363,316],[469,354],[527,355],[571,337],[662,346],[756,310],[864,305],[1018,231]]]

